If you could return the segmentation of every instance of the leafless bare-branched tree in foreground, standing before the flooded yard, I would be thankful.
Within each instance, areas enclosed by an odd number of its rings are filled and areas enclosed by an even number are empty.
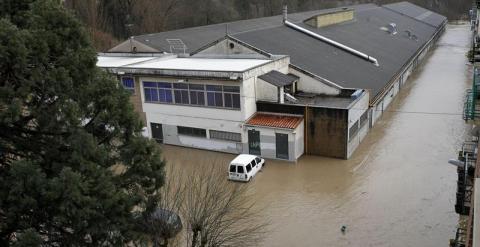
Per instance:
[[[228,181],[225,169],[214,162],[188,176],[182,207],[188,246],[255,246],[266,232],[248,185]]]

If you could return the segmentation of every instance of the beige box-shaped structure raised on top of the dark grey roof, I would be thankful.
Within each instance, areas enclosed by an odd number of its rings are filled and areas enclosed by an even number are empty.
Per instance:
[[[305,24],[321,28],[334,24],[351,21],[354,18],[354,10],[350,8],[336,9],[330,12],[322,13],[305,20]]]

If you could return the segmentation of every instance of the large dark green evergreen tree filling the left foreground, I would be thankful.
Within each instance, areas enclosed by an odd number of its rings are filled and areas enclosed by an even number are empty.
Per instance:
[[[164,163],[128,93],[61,1],[0,4],[0,246],[134,241]]]

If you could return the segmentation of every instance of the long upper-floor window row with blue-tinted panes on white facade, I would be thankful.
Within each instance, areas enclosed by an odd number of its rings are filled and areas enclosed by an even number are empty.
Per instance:
[[[240,87],[143,82],[146,102],[240,109]]]

